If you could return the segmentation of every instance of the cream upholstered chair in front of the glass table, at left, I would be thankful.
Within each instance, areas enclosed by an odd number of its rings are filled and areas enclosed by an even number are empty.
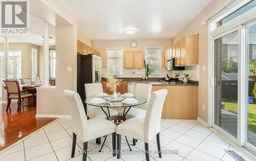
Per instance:
[[[76,147],[76,137],[83,142],[82,160],[87,159],[88,141],[103,137],[112,133],[113,151],[116,146],[116,125],[104,118],[93,118],[87,120],[86,112],[84,111],[82,100],[78,93],[70,90],[64,90],[68,101],[68,107],[72,118],[73,126],[73,143],[71,157],[74,157]],[[115,153],[113,153],[115,156]]]

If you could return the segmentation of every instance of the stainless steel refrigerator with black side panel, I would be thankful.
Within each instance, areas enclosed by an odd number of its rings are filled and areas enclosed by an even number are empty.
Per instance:
[[[80,55],[77,53],[77,93],[80,95],[86,110],[86,91],[84,84],[100,83],[102,77],[102,59],[96,55]],[[87,111],[87,110],[86,110]]]

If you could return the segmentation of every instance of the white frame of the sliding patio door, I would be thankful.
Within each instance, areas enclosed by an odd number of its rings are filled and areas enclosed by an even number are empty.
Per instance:
[[[227,7],[229,8],[229,6]],[[229,8],[230,9],[230,8]],[[218,13],[219,14],[219,13]],[[248,24],[253,22],[256,23],[256,7],[245,12],[244,14],[230,20],[229,22],[223,24],[219,28],[216,28],[214,25],[216,15],[210,18],[207,21],[208,24],[208,126],[214,127],[219,132],[221,132],[225,137],[230,139],[232,142],[236,143],[240,147],[246,147],[248,150],[256,154],[256,148],[252,146],[250,143],[246,142],[247,135],[247,95],[244,89],[248,88],[247,83],[247,46],[246,46],[246,27]],[[223,14],[223,13],[222,13]],[[214,40],[219,36],[221,37],[231,33],[232,30],[239,29],[239,52],[238,55],[238,139],[235,139],[225,130],[221,129],[217,125],[214,124]],[[215,39],[214,39],[215,38]],[[241,55],[243,53],[243,56]],[[242,95],[241,95],[242,94]]]

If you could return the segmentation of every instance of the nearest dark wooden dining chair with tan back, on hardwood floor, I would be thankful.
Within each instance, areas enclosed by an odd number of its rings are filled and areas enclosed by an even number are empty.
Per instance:
[[[18,84],[18,81],[16,80],[6,80],[4,81],[4,83],[6,85],[7,99],[8,99],[6,111],[8,111],[12,99],[18,100],[17,111],[19,111],[19,109],[22,107],[23,99],[33,96],[33,94],[31,93],[20,92],[19,84]]]

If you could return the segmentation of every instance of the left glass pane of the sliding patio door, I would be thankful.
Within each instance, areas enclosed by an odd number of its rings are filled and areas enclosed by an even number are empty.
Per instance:
[[[232,31],[214,40],[214,123],[234,138],[238,138],[238,35]]]

